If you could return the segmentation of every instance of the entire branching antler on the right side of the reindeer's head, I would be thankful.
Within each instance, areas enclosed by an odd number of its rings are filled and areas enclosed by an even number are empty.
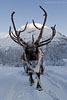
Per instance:
[[[35,28],[40,30],[40,34],[38,36],[38,39],[34,42],[34,44],[37,45],[38,47],[43,46],[43,45],[47,45],[48,43],[50,43],[51,40],[53,39],[53,37],[56,34],[56,29],[55,29],[56,25],[54,25],[54,27],[51,27],[51,29],[52,29],[52,37],[50,37],[47,40],[44,40],[44,41],[40,42],[40,39],[42,38],[42,34],[43,34],[43,29],[44,29],[44,26],[45,26],[45,23],[46,23],[46,20],[47,20],[47,12],[44,10],[44,8],[42,6],[40,6],[40,8],[43,10],[44,16],[45,16],[42,27],[41,28],[37,27],[35,22],[34,22],[34,20],[33,20],[33,25],[35,26]]]

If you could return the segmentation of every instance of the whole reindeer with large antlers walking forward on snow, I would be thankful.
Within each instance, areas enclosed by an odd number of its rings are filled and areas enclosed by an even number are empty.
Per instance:
[[[24,49],[24,53],[21,58],[24,62],[25,69],[27,69],[27,72],[29,74],[29,81],[30,81],[31,85],[34,83],[32,74],[35,73],[37,75],[36,89],[38,89],[38,90],[42,90],[42,87],[40,84],[41,68],[43,71],[43,56],[42,56],[42,50],[40,49],[40,47],[49,44],[56,34],[56,29],[55,29],[56,25],[54,25],[54,27],[51,27],[52,37],[50,37],[44,41],[40,41],[42,38],[44,26],[45,26],[45,23],[47,20],[47,12],[44,10],[44,8],[42,6],[40,6],[40,8],[43,10],[44,16],[45,16],[42,27],[41,28],[37,27],[34,20],[32,21],[34,27],[37,28],[38,30],[40,30],[40,34],[39,34],[38,38],[36,39],[36,41],[34,41],[33,35],[32,35],[32,42],[30,44],[25,42],[20,37],[20,34],[26,30],[28,22],[26,23],[23,30],[17,30],[15,27],[14,19],[13,19],[13,15],[15,14],[15,12],[12,12],[12,14],[11,14],[11,21],[13,24],[14,32],[11,31],[11,26],[9,28],[9,35],[10,35],[11,39],[14,42],[18,43],[19,45],[21,45]]]

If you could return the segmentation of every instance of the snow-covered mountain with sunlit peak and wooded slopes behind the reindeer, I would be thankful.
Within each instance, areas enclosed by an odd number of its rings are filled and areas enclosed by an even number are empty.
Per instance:
[[[38,27],[42,26],[38,23],[36,25]],[[23,28],[24,26],[20,29],[23,30]],[[45,26],[41,41],[51,37],[51,32],[51,29]],[[21,34],[21,37],[24,41],[28,42],[32,40],[32,34],[34,34],[34,39],[36,40],[39,33],[40,30],[37,30],[33,24],[28,24],[27,29]],[[42,49],[45,52],[45,65],[66,65],[67,37],[57,32],[52,42],[47,46],[43,46]],[[23,48],[12,41],[8,34],[0,38],[0,64],[16,67],[22,66],[20,59],[22,52]]]

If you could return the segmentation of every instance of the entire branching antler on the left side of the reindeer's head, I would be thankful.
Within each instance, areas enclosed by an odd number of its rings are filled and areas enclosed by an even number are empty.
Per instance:
[[[23,41],[22,38],[20,38],[20,33],[24,32],[26,30],[28,22],[26,23],[26,25],[25,25],[23,30],[19,30],[19,31],[16,30],[14,19],[13,19],[14,14],[15,14],[15,12],[13,11],[12,14],[11,14],[11,21],[12,21],[12,24],[13,24],[13,28],[14,28],[15,34],[11,31],[11,26],[10,26],[9,35],[10,35],[11,39],[14,40],[16,43],[20,44],[23,47],[27,47],[28,44],[25,41]]]

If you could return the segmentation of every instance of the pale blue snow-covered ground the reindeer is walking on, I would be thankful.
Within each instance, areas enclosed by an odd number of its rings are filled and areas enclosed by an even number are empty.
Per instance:
[[[30,86],[22,67],[0,67],[0,100],[66,100],[67,68],[46,66],[41,85],[43,91],[37,91],[35,79]]]

